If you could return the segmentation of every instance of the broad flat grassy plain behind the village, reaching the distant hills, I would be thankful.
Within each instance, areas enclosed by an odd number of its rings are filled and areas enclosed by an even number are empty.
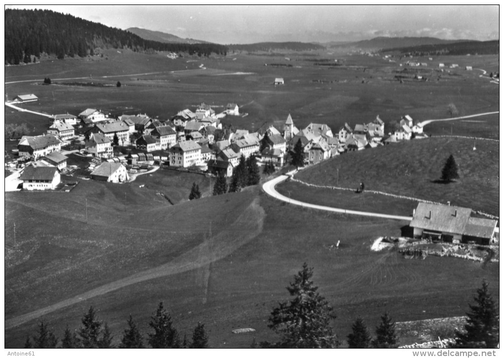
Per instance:
[[[377,114],[386,122],[410,114],[415,120],[449,117],[448,104],[454,103],[460,114],[498,110],[498,86],[480,78],[479,70],[463,68],[440,73],[437,63],[466,61],[488,72],[498,68],[498,56],[445,56],[428,61],[418,69],[430,81],[405,81],[404,67],[380,57],[352,55],[344,57],[344,65],[335,68],[313,65],[305,56],[291,56],[293,67],[274,67],[285,62],[281,56],[247,56],[167,59],[162,55],[140,55],[109,51],[108,60],[70,60],[41,62],[26,66],[6,67],[6,82],[40,80],[6,85],[9,98],[20,93],[34,93],[39,102],[23,107],[51,114],[78,114],[86,108],[98,108],[111,114],[147,113],[167,119],[177,111],[195,109],[201,102],[215,106],[218,112],[229,102],[240,106],[246,117],[230,117],[224,123],[238,128],[257,129],[274,124],[282,129],[291,113],[295,124],[304,127],[310,122],[329,124],[338,130],[345,122],[352,126],[368,122]],[[328,54],[325,57],[331,57]],[[339,58],[339,57],[338,57]],[[419,61],[424,59],[419,58]],[[425,60],[427,61],[427,60]],[[199,68],[203,64],[206,69]],[[187,66],[187,68],[185,68]],[[416,69],[415,69],[416,71]],[[407,76],[414,72],[408,70]],[[93,75],[93,79],[89,78]],[[134,75],[134,76],[126,76]],[[41,86],[44,77],[82,78],[53,82],[96,82],[123,85],[117,87]],[[107,76],[107,78],[100,78]],[[276,77],[285,79],[284,86],[273,86]],[[40,117],[39,126],[31,117],[6,111],[6,122],[29,122],[37,131],[48,126]],[[465,134],[490,136],[498,130],[498,121],[489,123],[484,133],[481,125],[467,122]]]

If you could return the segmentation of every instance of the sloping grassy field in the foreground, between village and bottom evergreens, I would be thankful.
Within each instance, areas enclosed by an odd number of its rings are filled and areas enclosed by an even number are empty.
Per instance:
[[[6,319],[128,277],[152,277],[43,316],[59,336],[67,323],[78,328],[89,305],[115,341],[130,313],[146,333],[163,300],[181,332],[206,323],[213,347],[274,339],[269,313],[288,298],[285,286],[305,261],[336,308],[342,339],[357,316],[371,326],[385,311],[397,321],[463,315],[483,278],[498,300],[496,264],[371,252],[375,238],[401,235],[402,224],[292,207],[255,187],[171,206],[133,185],[82,181],[70,193],[7,193],[6,202],[6,242],[13,222],[18,242],[16,250],[6,249]],[[258,209],[249,211],[251,205]],[[258,222],[261,230],[251,230]],[[338,240],[340,249],[331,250]],[[244,327],[255,334],[231,333]],[[35,329],[36,320],[7,329],[6,347],[21,346]]]

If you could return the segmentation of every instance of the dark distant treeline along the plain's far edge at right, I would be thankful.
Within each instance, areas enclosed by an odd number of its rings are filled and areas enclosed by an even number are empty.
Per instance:
[[[450,44],[421,45],[388,49],[387,52],[399,51],[414,56],[430,55],[494,55],[499,54],[499,41],[468,41]]]

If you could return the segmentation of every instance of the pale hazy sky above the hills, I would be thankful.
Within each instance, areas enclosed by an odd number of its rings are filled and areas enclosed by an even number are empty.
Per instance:
[[[107,26],[139,27],[222,44],[358,41],[377,36],[497,40],[496,5],[53,5]]]

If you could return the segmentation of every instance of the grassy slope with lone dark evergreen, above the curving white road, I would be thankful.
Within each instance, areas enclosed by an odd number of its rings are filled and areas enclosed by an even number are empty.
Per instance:
[[[499,214],[498,142],[463,138],[425,138],[362,152],[351,152],[303,170],[304,182],[379,190]],[[459,166],[456,182],[436,183],[453,154]],[[306,195],[306,194],[303,194]],[[294,196],[293,196],[294,197]]]

